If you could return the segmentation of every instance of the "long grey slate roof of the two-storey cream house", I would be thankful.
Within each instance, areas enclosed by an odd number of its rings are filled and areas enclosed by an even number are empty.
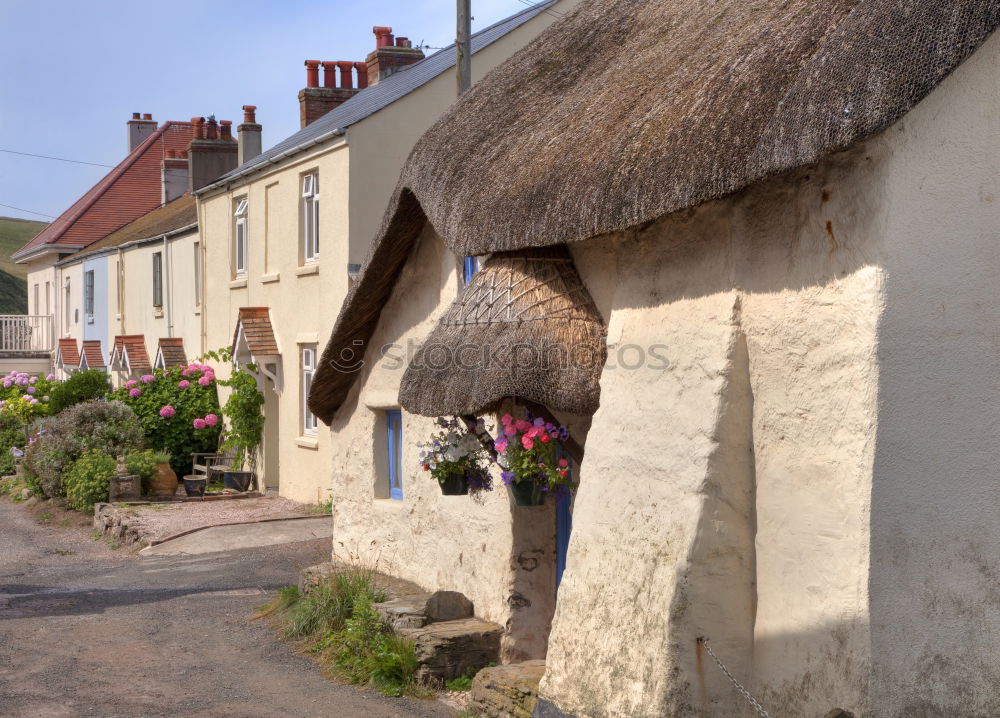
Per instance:
[[[546,0],[537,5],[527,7],[498,23],[490,25],[480,30],[472,36],[472,52],[479,52],[508,33],[516,30],[524,23],[544,12],[557,0]],[[345,129],[360,122],[369,115],[372,115],[383,107],[391,105],[396,100],[408,95],[414,90],[427,84],[438,75],[447,72],[455,66],[455,45],[440,50],[433,55],[416,62],[409,67],[389,75],[384,80],[379,80],[361,92],[357,93],[344,104],[335,107],[311,125],[302,128],[294,135],[282,140],[274,147],[257,155],[249,162],[245,162],[232,172],[223,175],[221,178],[202,188],[195,194],[205,192],[211,187],[215,187],[242,175],[248,174],[254,169],[258,169],[268,164],[273,158],[291,150],[301,144],[317,140],[334,130]]]

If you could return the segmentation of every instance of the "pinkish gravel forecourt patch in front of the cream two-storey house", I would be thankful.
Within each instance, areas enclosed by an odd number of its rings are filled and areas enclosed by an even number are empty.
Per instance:
[[[151,504],[132,507],[129,512],[138,520],[142,534],[152,541],[204,526],[316,515],[303,504],[281,498]]]

